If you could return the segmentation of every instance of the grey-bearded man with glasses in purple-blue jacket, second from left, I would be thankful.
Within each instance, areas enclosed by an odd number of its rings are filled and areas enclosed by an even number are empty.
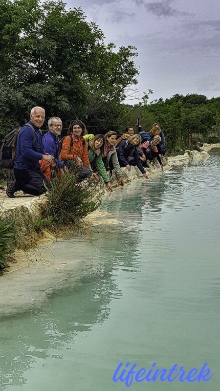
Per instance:
[[[68,173],[68,170],[65,163],[59,159],[60,134],[62,127],[63,124],[59,117],[52,117],[48,120],[49,131],[43,136],[43,147],[46,152],[53,156],[53,162],[56,164],[56,167],[63,170],[61,173],[66,174]]]

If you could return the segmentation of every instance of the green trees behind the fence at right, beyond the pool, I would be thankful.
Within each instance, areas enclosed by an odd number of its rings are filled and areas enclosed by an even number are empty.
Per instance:
[[[220,97],[207,99],[205,95],[176,94],[170,99],[148,104],[127,106],[121,117],[123,123],[134,123],[137,115],[143,130],[150,130],[154,122],[164,130],[167,150],[173,152],[198,141],[220,142]],[[192,140],[191,140],[192,137]]]

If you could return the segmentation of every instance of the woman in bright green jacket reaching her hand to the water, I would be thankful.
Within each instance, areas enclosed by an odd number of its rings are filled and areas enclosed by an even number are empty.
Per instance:
[[[105,136],[96,134],[91,138],[91,134],[87,134],[84,138],[88,141],[88,160],[92,171],[92,166],[95,165],[104,182],[107,184],[110,192],[113,192],[109,177],[106,172],[102,156],[105,154]]]

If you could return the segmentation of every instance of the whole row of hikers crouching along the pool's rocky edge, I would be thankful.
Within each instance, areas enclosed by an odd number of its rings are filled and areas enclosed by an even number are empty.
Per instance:
[[[124,185],[121,167],[131,171],[131,166],[137,166],[148,178],[145,168],[158,159],[163,170],[165,138],[158,124],[154,124],[149,132],[140,128],[138,134],[134,133],[132,127],[128,127],[117,138],[114,131],[105,135],[87,134],[85,124],[77,119],[71,121],[67,135],[60,139],[62,120],[59,117],[50,118],[48,131],[43,136],[40,128],[44,119],[44,109],[34,107],[30,112],[29,123],[18,133],[14,177],[8,181],[6,189],[9,197],[15,197],[19,190],[30,195],[44,194],[56,173],[77,173],[78,181],[88,177],[96,180],[99,173],[112,192],[112,170],[121,186]]]

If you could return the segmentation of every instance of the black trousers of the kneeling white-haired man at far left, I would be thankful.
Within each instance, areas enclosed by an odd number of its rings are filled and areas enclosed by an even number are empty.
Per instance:
[[[42,171],[39,169],[27,168],[24,170],[14,169],[15,191],[22,190],[31,195],[41,195],[46,193],[46,187],[49,187],[48,181]],[[44,186],[45,185],[45,186]]]

